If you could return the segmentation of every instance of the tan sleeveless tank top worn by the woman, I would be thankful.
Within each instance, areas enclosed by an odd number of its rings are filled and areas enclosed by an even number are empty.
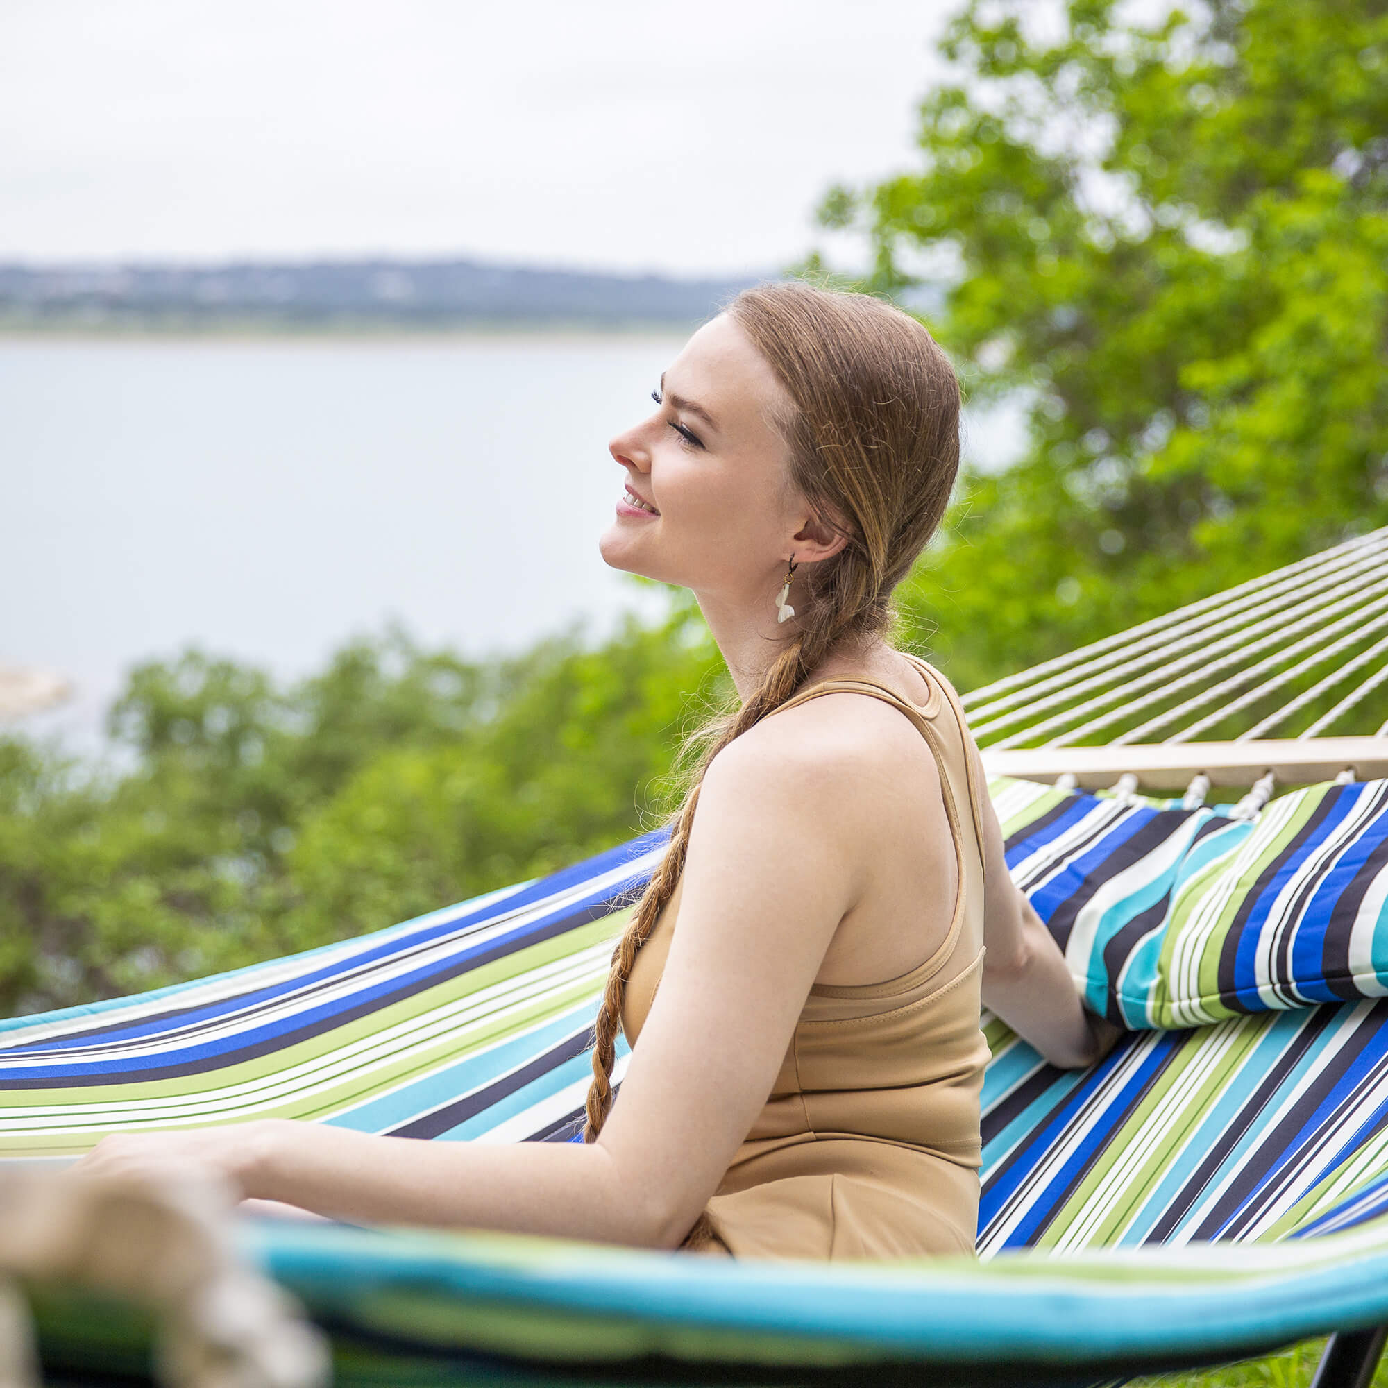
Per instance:
[[[979,1092],[988,1047],[983,972],[983,822],[958,697],[933,666],[923,705],[867,680],[823,694],[886,700],[919,729],[940,768],[958,861],[949,930],[908,973],[862,987],[815,984],[765,1108],[705,1210],[709,1252],[737,1258],[912,1258],[972,1253],[979,1217]],[[775,716],[775,715],[769,715]],[[679,916],[676,886],[637,955],[622,1027],[636,1045]]]

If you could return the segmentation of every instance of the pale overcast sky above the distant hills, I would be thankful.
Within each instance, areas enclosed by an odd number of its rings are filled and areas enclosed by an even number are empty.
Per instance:
[[[0,258],[781,265],[945,4],[4,0]]]

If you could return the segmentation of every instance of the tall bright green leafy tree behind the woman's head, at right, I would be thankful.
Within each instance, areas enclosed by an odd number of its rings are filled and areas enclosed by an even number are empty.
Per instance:
[[[905,590],[965,686],[1388,522],[1388,6],[1123,12],[973,0],[920,167],[820,210],[1031,401]]]

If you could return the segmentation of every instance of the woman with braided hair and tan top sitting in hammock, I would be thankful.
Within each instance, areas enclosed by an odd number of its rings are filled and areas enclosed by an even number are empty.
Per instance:
[[[602,557],[694,591],[741,706],[613,955],[587,1141],[265,1120],[110,1137],[79,1169],[193,1163],[347,1220],[744,1258],[972,1251],[980,999],[1056,1065],[1113,1031],[1008,879],[952,690],[886,640],[954,484],[954,372],[898,310],[775,285],[654,398],[611,444]]]

